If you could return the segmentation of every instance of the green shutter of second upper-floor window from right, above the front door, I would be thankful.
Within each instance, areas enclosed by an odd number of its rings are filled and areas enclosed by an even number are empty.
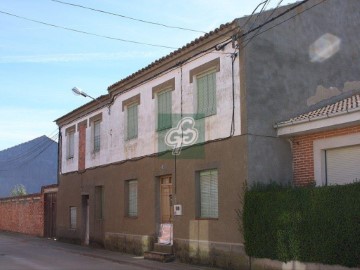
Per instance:
[[[163,130],[171,127],[171,91],[161,92],[157,95],[158,98],[158,130]]]

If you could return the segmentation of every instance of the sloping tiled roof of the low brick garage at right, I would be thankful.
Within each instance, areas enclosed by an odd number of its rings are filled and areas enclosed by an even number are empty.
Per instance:
[[[360,94],[353,95],[317,110],[301,114],[287,121],[280,122],[278,125],[296,124],[298,122],[309,121],[310,119],[331,117],[335,114],[346,113],[355,109],[360,109]]]

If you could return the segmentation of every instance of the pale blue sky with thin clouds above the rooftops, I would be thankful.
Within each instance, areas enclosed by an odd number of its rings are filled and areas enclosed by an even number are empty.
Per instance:
[[[64,0],[143,20],[210,31],[249,15],[262,1]],[[282,5],[295,1],[283,1]],[[268,8],[275,7],[273,0]],[[201,33],[169,29],[51,0],[0,1],[0,12],[100,35],[181,47]],[[109,40],[0,14],[0,150],[52,135],[56,118],[90,100],[72,94],[78,86],[93,97],[172,49]]]

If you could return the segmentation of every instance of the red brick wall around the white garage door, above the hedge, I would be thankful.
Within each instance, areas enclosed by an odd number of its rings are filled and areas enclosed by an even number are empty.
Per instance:
[[[323,131],[293,138],[293,170],[294,183],[297,186],[308,185],[315,180],[313,142],[352,133],[360,133],[360,125]]]

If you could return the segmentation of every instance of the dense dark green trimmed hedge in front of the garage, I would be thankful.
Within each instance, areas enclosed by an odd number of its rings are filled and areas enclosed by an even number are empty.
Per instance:
[[[245,193],[249,256],[360,266],[360,183]]]

